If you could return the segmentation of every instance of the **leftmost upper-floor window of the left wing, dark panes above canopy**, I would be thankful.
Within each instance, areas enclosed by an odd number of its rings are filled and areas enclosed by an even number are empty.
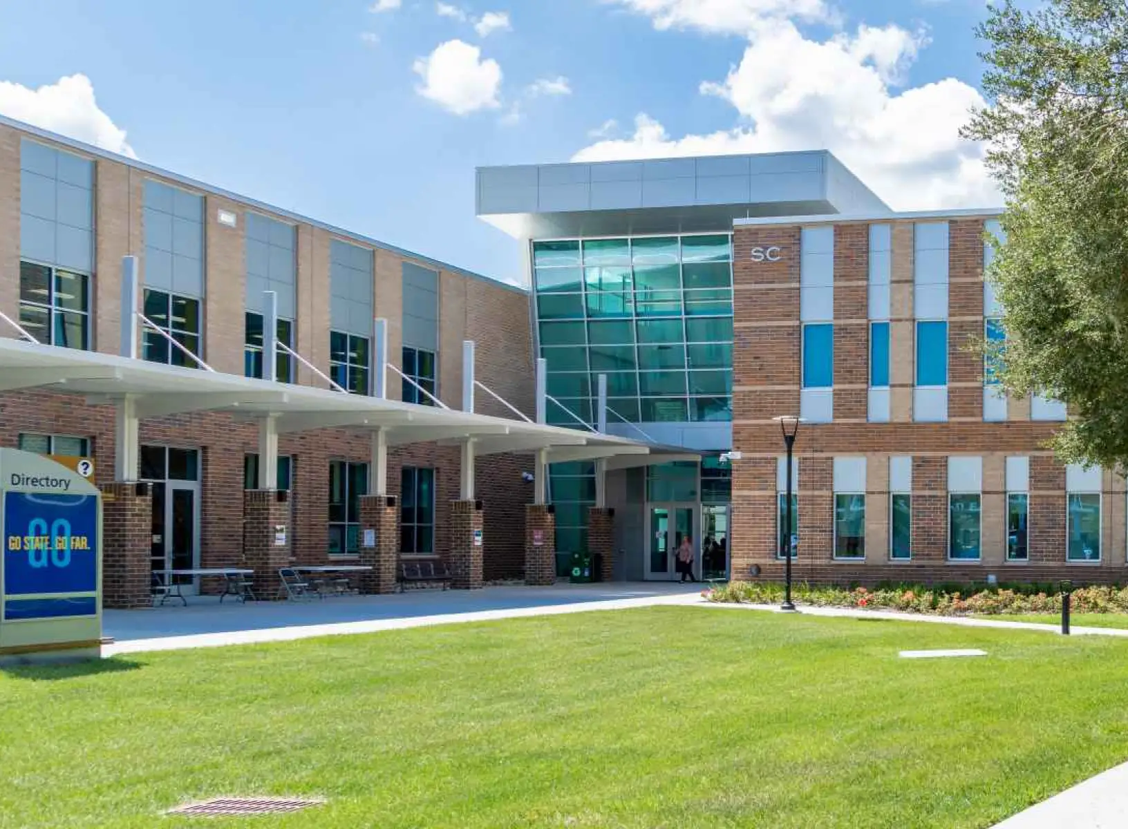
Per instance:
[[[90,347],[90,277],[19,263],[19,324],[45,345]]]

